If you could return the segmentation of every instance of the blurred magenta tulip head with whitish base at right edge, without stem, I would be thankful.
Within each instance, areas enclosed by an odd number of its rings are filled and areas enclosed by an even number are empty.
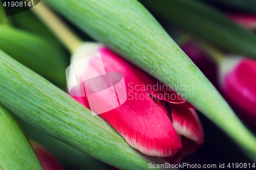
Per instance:
[[[239,116],[256,128],[256,61],[248,58],[227,59],[223,61],[222,70],[220,84],[224,95],[238,110]]]

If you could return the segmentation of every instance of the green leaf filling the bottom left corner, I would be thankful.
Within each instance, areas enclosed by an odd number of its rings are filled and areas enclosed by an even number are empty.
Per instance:
[[[9,110],[0,103],[0,168],[41,169],[42,167]]]

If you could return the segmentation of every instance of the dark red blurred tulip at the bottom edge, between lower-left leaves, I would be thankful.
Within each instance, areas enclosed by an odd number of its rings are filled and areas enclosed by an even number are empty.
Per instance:
[[[65,168],[59,161],[44,147],[35,141],[30,140],[30,143],[35,151],[35,154],[44,170],[64,170]]]

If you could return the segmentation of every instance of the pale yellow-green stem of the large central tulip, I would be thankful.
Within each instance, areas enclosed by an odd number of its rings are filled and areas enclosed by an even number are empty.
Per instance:
[[[32,10],[72,54],[75,52],[76,48],[82,44],[82,40],[44,3],[40,2],[33,7]]]

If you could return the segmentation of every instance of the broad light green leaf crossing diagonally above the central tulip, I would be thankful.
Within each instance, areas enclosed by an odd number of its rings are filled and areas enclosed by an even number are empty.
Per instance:
[[[185,94],[188,102],[215,122],[256,160],[256,139],[253,134],[240,122],[197,66],[138,1],[47,2],[93,38],[108,45],[159,81],[175,87],[193,86],[193,90],[174,90]],[[255,50],[255,45],[253,49]]]

